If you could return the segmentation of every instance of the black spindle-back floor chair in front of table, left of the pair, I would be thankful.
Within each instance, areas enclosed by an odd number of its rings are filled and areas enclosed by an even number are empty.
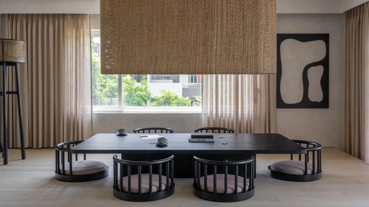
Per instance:
[[[174,155],[142,162],[121,160],[114,155],[114,196],[127,201],[153,201],[171,196],[174,193],[173,159]],[[132,174],[136,169],[138,173]],[[148,173],[142,173],[145,171]]]

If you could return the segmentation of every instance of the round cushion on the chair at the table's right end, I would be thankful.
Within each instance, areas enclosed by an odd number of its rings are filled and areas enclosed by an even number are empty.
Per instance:
[[[277,172],[282,172],[286,174],[294,175],[304,175],[305,174],[305,161],[299,160],[282,160],[270,165],[270,168]],[[313,171],[313,165],[307,163],[307,174],[311,174]],[[317,172],[317,167],[315,164],[315,172]]]

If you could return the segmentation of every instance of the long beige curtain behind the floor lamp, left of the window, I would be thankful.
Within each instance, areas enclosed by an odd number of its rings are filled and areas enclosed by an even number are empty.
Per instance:
[[[25,40],[19,65],[25,146],[53,147],[92,135],[88,14],[2,14],[3,38]],[[8,69],[8,90],[15,90]],[[20,147],[16,97],[8,100],[9,147]]]

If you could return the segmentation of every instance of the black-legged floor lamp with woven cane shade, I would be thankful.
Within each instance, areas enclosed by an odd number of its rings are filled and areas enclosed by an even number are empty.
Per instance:
[[[25,159],[25,146],[23,136],[23,121],[22,121],[22,109],[21,109],[21,94],[19,89],[19,78],[18,78],[18,63],[25,63],[25,42],[23,40],[13,39],[0,39],[0,65],[3,69],[3,92],[0,92],[3,102],[3,146],[0,143],[0,150],[3,154],[4,165],[8,164],[8,138],[7,138],[7,106],[6,106],[6,95],[16,94],[18,102],[18,119],[20,128],[20,139],[21,139],[21,154],[22,160]],[[15,69],[15,85],[16,91],[7,91],[6,89],[6,67],[14,66]]]

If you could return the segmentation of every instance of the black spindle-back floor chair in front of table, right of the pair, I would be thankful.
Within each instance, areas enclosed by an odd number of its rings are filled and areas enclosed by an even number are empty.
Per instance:
[[[254,156],[248,160],[229,162],[203,160],[196,156],[193,158],[195,160],[193,177],[195,196],[217,202],[241,201],[254,196],[255,186],[252,175]],[[231,171],[234,175],[228,174],[228,172],[232,173]],[[209,175],[208,172],[213,174]]]

